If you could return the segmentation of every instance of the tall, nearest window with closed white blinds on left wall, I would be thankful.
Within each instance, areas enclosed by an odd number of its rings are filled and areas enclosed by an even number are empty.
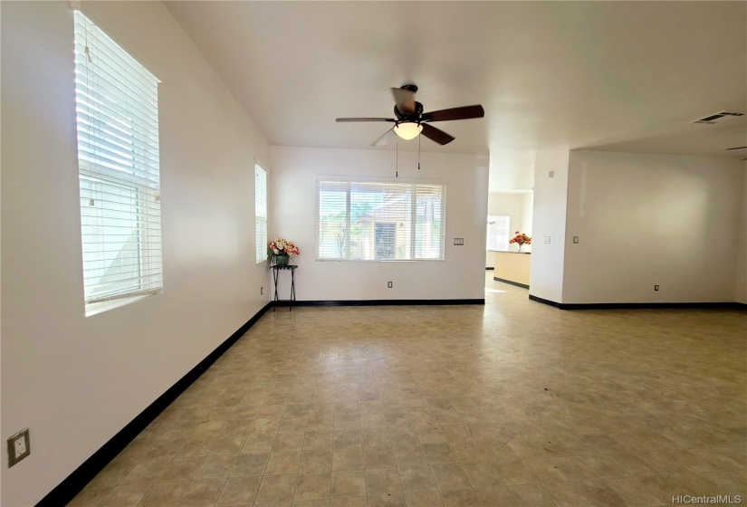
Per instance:
[[[160,292],[158,79],[75,11],[86,314]],[[92,305],[92,306],[91,306]],[[106,306],[106,305],[104,305]]]

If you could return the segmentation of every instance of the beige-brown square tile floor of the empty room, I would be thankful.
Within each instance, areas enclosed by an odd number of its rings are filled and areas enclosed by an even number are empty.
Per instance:
[[[747,314],[267,313],[73,506],[747,502]]]

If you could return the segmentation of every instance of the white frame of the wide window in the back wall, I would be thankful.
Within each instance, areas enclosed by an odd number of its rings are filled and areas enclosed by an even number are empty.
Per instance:
[[[382,177],[324,177],[317,176],[315,178],[316,183],[316,195],[315,195],[315,216],[314,216],[314,257],[316,262],[321,263],[423,263],[423,262],[444,262],[446,260],[446,196],[447,196],[447,185],[444,179],[419,179],[419,178],[382,178]],[[369,185],[409,185],[413,187],[411,189],[412,205],[410,206],[410,215],[408,217],[409,226],[411,228],[411,244],[410,244],[410,256],[407,259],[353,259],[350,258],[350,248],[346,246],[346,257],[340,258],[322,258],[320,257],[320,186],[321,183],[340,183],[346,185],[346,227],[345,227],[345,244],[350,244],[350,186],[354,184],[369,184]],[[439,186],[441,187],[441,231],[438,258],[416,258],[415,253],[417,252],[417,186]],[[383,219],[383,222],[387,222],[388,219]],[[375,227],[375,226],[374,226]]]

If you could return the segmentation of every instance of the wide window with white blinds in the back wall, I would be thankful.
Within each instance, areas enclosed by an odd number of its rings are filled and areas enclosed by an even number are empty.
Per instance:
[[[317,188],[317,260],[444,260],[445,185],[320,179]]]

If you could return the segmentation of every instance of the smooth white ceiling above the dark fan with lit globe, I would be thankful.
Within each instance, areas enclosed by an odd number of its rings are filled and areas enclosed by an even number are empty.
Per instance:
[[[491,154],[491,190],[532,186],[534,153],[594,148],[747,157],[747,2],[167,2],[272,145],[370,148],[389,87],[427,110],[434,152]],[[417,149],[417,139],[400,143]],[[393,149],[382,147],[376,149]]]

